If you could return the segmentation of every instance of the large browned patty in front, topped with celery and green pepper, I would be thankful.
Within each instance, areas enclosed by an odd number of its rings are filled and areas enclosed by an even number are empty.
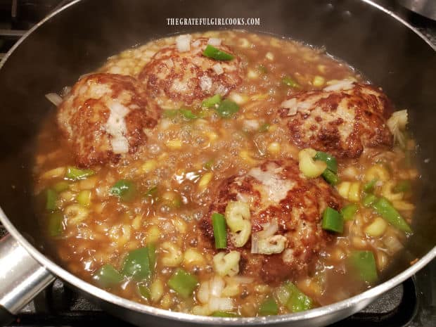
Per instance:
[[[222,181],[212,198],[209,214],[200,222],[211,247],[214,244],[211,215],[224,214],[229,201],[249,204],[252,233],[243,248],[235,248],[229,237],[228,248],[241,252],[241,274],[266,282],[283,281],[308,271],[330,238],[321,229],[322,212],[326,207],[338,209],[341,204],[331,186],[321,178],[306,179],[294,160],[267,161],[243,176]],[[278,230],[274,235],[286,238],[283,252],[252,253],[255,233],[275,222]]]

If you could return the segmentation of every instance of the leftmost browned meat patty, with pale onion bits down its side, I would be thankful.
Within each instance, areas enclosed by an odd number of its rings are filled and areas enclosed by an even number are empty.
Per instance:
[[[79,167],[117,162],[146,142],[143,129],[157,123],[141,83],[128,76],[94,74],[79,79],[58,109],[60,129]]]

